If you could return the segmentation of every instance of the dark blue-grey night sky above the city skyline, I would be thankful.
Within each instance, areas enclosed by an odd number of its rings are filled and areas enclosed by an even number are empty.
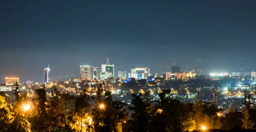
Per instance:
[[[0,82],[117,70],[256,70],[256,0],[1,0]],[[243,68],[243,69],[241,69]],[[74,75],[72,75],[74,74]]]

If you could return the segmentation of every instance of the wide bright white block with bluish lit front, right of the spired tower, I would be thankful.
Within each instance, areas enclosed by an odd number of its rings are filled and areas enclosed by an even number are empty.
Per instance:
[[[150,74],[149,68],[135,68],[131,69],[131,77],[136,79],[148,79],[148,75]]]

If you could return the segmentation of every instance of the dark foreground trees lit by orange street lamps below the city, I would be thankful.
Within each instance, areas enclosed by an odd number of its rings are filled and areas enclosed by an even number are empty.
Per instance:
[[[45,88],[35,92],[31,100],[16,87],[13,104],[0,93],[0,132],[191,132],[202,126],[255,129],[256,110],[250,95],[243,101],[243,112],[231,106],[223,116],[222,110],[198,97],[194,104],[174,100],[170,90],[163,90],[153,102],[148,92],[132,94],[131,106],[113,101],[111,92],[101,86],[93,97],[86,90],[71,96],[55,89],[49,98]]]

